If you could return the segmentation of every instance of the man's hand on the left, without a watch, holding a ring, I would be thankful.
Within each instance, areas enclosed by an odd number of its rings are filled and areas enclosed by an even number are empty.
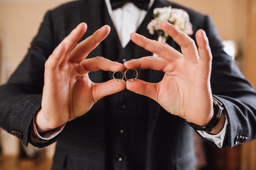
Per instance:
[[[42,109],[36,115],[38,132],[57,128],[87,113],[102,97],[126,88],[124,80],[94,83],[90,71],[123,70],[124,65],[103,57],[85,59],[110,33],[105,25],[93,35],[81,39],[87,25],[79,24],[53,51],[45,63]]]

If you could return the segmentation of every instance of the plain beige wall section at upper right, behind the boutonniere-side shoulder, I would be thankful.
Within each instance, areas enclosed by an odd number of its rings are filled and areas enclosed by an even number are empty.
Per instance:
[[[242,41],[245,38],[245,0],[173,0],[210,15],[222,39]]]

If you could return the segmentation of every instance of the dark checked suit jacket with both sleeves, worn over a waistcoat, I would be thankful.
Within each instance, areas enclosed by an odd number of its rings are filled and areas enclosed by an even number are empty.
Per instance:
[[[213,53],[212,92],[223,103],[229,121],[224,146],[233,147],[240,144],[242,142],[239,139],[243,137],[247,137],[248,141],[255,139],[256,94],[251,84],[239,71],[236,63],[223,51],[221,40],[209,16],[165,0],[155,0],[137,33],[156,39],[155,35],[148,33],[146,25],[152,19],[151,13],[155,7],[170,5],[189,13],[193,24],[194,34],[191,35],[193,39],[198,29],[204,29],[209,38]],[[9,82],[0,87],[0,126],[19,137],[25,145],[31,142],[30,124],[41,104],[44,63],[54,48],[80,22],[88,24],[88,31],[81,40],[104,24],[109,24],[112,28],[106,40],[88,57],[104,56],[120,62],[124,58],[130,60],[151,55],[150,52],[132,42],[129,42],[125,49],[121,48],[103,0],[76,0],[48,11],[25,59],[10,77]],[[180,51],[179,46],[171,39],[167,43]],[[111,76],[112,73],[103,71],[90,73],[93,82],[104,82],[111,79]],[[162,76],[162,72],[139,71],[139,78],[149,82],[158,82]],[[124,99],[126,95],[133,97],[134,102],[131,105],[134,104],[138,112],[146,111],[144,114],[146,115],[144,122],[146,125],[145,169],[193,169],[195,166],[193,129],[186,124],[184,119],[167,113],[153,100],[140,98],[139,95],[129,91],[99,100],[87,114],[70,122],[65,130],[53,140],[45,144],[34,145],[44,147],[58,139],[53,165],[56,170],[105,169],[105,164],[108,163],[106,161],[108,160],[106,159],[108,157],[106,155],[106,146],[108,146],[106,145],[108,136],[106,121],[110,119],[107,115],[115,108],[115,103]],[[136,102],[139,104],[138,107]],[[126,112],[133,110],[128,108]]]

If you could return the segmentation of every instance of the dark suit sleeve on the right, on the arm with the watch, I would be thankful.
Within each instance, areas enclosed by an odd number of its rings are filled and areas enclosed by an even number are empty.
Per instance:
[[[207,33],[213,54],[211,88],[222,102],[228,119],[224,145],[233,147],[256,138],[256,93],[241,73],[236,61],[225,53],[216,27],[204,16],[202,28]]]

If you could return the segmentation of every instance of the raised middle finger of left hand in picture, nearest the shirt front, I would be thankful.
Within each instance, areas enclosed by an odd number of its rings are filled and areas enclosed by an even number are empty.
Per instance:
[[[77,44],[76,48],[72,51],[70,62],[80,63],[87,55],[94,50],[101,41],[103,41],[110,33],[110,26],[104,25],[91,36]]]

